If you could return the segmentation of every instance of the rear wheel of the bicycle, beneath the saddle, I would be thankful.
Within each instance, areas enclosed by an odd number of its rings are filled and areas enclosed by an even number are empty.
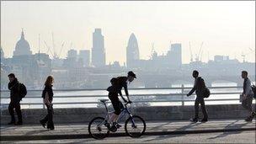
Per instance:
[[[109,136],[109,129],[104,125],[105,122],[103,117],[96,117],[91,120],[88,125],[89,135],[95,139],[104,139]]]

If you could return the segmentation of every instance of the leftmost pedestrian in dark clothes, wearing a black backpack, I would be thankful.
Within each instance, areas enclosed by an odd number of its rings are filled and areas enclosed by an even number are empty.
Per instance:
[[[11,121],[8,123],[8,125],[13,125],[15,124],[15,116],[14,116],[14,110],[16,111],[17,115],[18,115],[18,122],[16,123],[16,125],[22,125],[22,115],[21,115],[21,110],[20,110],[20,100],[22,99],[19,93],[19,81],[18,79],[15,77],[15,75],[13,73],[10,73],[8,75],[9,78],[9,83],[8,83],[8,89],[11,91],[10,92],[10,104],[8,106],[8,111],[11,115]]]

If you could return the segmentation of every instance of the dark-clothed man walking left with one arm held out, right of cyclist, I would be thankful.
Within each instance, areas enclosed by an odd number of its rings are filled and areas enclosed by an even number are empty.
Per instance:
[[[205,81],[203,78],[198,77],[199,72],[194,71],[192,76],[195,78],[194,87],[187,94],[187,96],[191,95],[195,92],[195,117],[190,119],[191,122],[197,122],[199,118],[199,104],[201,105],[202,112],[204,114],[204,118],[200,120],[201,122],[206,122],[208,120],[207,111],[205,109],[205,100],[204,100],[204,92],[205,92]]]

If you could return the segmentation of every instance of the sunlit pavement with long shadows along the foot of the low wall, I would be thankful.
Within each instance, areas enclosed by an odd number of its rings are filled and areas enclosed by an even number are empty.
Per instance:
[[[191,123],[188,120],[176,121],[146,121],[145,135],[177,135],[198,134],[227,131],[256,131],[255,120],[209,120],[206,123]],[[122,125],[122,123],[121,123]],[[29,140],[60,140],[60,139],[86,139],[88,135],[88,122],[84,124],[56,124],[54,131],[48,131],[39,125],[1,125],[1,141],[29,141]],[[109,137],[126,136],[124,125],[115,133],[110,132]]]

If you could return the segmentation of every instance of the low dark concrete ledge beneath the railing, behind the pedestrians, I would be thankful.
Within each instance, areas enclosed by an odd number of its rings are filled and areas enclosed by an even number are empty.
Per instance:
[[[243,119],[248,112],[241,104],[206,105],[209,119]],[[46,115],[46,109],[22,109],[24,124],[38,124]],[[133,115],[144,120],[188,120],[194,116],[194,106],[152,106],[132,108]],[[104,116],[103,108],[54,109],[54,122],[85,123],[96,116]],[[201,116],[201,112],[200,112]],[[8,109],[1,109],[1,125],[10,120]]]

